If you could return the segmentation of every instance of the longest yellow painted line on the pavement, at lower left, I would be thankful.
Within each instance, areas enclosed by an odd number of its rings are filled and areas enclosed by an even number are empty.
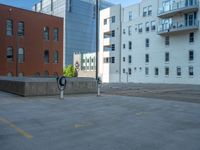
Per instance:
[[[9,120],[7,120],[3,117],[0,117],[0,123],[1,122],[8,125],[12,129],[15,129],[16,132],[18,132],[20,135],[26,137],[27,139],[31,140],[33,138],[33,136],[30,133],[18,128],[15,124],[13,124],[12,122],[10,122]]]

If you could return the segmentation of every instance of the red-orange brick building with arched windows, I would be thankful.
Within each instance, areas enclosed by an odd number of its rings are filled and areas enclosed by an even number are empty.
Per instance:
[[[62,73],[63,19],[0,4],[0,76]]]

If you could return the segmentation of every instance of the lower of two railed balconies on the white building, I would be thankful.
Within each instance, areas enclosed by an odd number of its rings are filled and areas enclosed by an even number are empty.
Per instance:
[[[174,33],[181,33],[184,31],[195,31],[199,29],[199,21],[194,20],[191,22],[173,22],[170,25],[162,24],[158,29],[159,35],[168,35]]]

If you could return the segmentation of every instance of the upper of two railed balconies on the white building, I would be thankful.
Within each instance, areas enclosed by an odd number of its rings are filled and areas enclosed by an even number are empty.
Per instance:
[[[199,9],[199,1],[193,0],[193,1],[179,1],[176,3],[173,3],[171,5],[168,5],[168,7],[162,7],[160,11],[158,12],[158,17],[160,18],[169,18],[177,13],[189,13],[189,12],[195,12]]]

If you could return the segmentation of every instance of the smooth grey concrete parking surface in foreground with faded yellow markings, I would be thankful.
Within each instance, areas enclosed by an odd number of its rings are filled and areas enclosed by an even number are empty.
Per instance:
[[[199,150],[200,104],[0,92],[0,150]]]

